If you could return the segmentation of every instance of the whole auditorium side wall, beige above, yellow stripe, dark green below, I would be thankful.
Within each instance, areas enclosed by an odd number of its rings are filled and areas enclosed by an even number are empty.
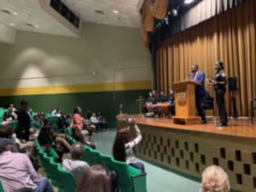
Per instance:
[[[150,62],[139,29],[85,24],[81,38],[17,32],[14,45],[0,44],[0,107],[18,108],[23,98],[45,113],[81,106],[113,126],[120,103],[125,113],[139,112],[139,96],[151,89]]]

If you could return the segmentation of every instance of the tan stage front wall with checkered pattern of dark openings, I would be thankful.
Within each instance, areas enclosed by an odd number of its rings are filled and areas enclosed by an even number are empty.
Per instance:
[[[137,157],[197,178],[207,166],[218,165],[228,173],[232,189],[256,191],[256,139],[138,126],[143,140],[136,148]],[[118,129],[124,127],[125,121],[118,119]],[[134,129],[130,131],[136,137]]]

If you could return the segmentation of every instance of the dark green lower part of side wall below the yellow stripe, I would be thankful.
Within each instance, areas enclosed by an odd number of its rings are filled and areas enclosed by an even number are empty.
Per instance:
[[[116,127],[116,115],[119,114],[119,104],[123,103],[123,113],[139,113],[139,96],[148,96],[149,90],[125,90],[116,91],[116,101],[113,101],[113,91],[73,93],[57,95],[35,95],[35,96],[0,96],[0,106],[8,108],[13,103],[15,108],[20,107],[20,101],[26,99],[30,102],[29,108],[33,111],[51,113],[56,106],[64,113],[71,112],[77,106],[84,111],[101,112],[110,127]]]

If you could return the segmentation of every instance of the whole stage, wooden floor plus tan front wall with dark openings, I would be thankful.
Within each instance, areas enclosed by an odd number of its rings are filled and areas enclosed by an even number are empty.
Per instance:
[[[256,120],[230,119],[229,126],[217,127],[213,118],[207,125],[176,125],[172,119],[120,114],[118,129],[127,117],[136,119],[142,131],[137,156],[198,178],[207,166],[218,165],[228,173],[232,189],[256,191]]]

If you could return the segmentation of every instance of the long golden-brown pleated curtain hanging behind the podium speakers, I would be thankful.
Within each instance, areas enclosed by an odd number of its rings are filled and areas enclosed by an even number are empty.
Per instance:
[[[248,116],[250,99],[256,97],[255,27],[256,1],[248,0],[172,38],[159,40],[156,50],[158,90],[169,92],[173,82],[186,79],[192,64],[198,64],[200,71],[206,73],[206,79],[212,79],[215,61],[223,61],[227,78],[238,78],[237,113]],[[212,85],[205,85],[215,97]],[[227,91],[228,113],[230,96]]]

